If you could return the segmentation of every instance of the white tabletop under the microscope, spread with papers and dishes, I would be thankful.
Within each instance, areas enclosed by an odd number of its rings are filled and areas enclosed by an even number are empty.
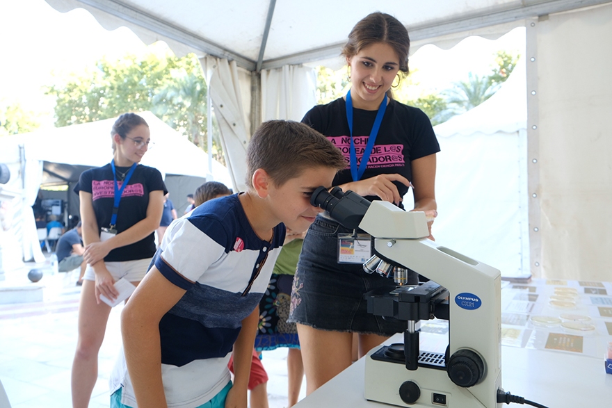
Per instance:
[[[561,293],[559,288],[565,288],[565,291],[574,288],[577,293],[574,295],[574,309],[551,309],[551,296]],[[593,318],[596,330],[579,336],[579,352],[549,350],[556,348],[548,347],[551,339],[570,334],[560,327],[534,327],[530,323],[530,316],[555,317],[563,313]],[[502,290],[502,315],[505,317],[502,328],[510,329],[502,333],[502,344],[510,344],[501,348],[501,386],[504,391],[549,408],[612,407],[612,375],[606,374],[604,365],[605,345],[612,341],[610,282],[533,279],[526,284],[508,284]],[[421,346],[423,336],[428,336],[428,333],[421,333]],[[575,335],[570,337],[575,338]],[[396,334],[385,344],[391,343],[403,343],[402,335]],[[296,407],[389,407],[364,399],[364,358]]]

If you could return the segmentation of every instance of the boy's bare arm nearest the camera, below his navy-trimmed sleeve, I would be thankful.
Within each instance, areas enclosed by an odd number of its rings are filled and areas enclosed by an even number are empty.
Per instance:
[[[168,407],[161,380],[159,322],[185,292],[153,267],[123,308],[125,361],[139,407]]]

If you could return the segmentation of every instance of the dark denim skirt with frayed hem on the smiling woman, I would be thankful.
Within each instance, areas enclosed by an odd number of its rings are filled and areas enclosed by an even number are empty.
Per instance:
[[[375,288],[393,291],[393,279],[367,274],[361,263],[338,263],[338,234],[352,232],[317,216],[304,238],[288,321],[336,332],[382,336],[403,332],[408,323],[368,313],[364,299],[364,293]]]

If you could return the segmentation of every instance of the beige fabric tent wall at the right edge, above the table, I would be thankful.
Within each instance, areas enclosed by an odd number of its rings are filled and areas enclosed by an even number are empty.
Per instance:
[[[542,276],[611,281],[612,5],[536,24]]]

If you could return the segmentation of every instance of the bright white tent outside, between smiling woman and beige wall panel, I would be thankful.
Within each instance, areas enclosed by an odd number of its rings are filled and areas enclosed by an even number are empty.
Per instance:
[[[433,235],[508,277],[530,275],[524,68],[520,61],[490,99],[434,127]]]

